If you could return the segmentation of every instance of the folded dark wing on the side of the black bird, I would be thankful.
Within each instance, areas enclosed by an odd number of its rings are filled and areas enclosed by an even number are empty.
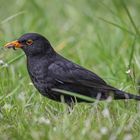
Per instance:
[[[48,67],[48,72],[59,83],[113,90],[99,76],[70,61],[55,61]]]

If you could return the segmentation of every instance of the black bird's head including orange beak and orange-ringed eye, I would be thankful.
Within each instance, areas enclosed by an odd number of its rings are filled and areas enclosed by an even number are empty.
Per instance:
[[[50,42],[37,33],[24,34],[19,39],[7,43],[4,47],[14,50],[21,48],[27,56],[43,56],[53,51]]]

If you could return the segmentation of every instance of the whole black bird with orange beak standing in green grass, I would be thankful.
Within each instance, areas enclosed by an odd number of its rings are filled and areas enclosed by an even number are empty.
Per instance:
[[[27,69],[34,86],[50,99],[61,101],[63,96],[68,104],[75,101],[89,102],[61,92],[65,90],[98,100],[105,100],[110,96],[115,100],[140,100],[140,96],[114,88],[95,73],[60,56],[54,51],[50,42],[40,34],[24,34],[5,47],[21,48],[25,52]]]

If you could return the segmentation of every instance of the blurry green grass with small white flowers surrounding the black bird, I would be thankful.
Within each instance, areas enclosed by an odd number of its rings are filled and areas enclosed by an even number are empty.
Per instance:
[[[140,94],[139,0],[0,0],[0,46],[27,32],[109,84]],[[139,140],[140,103],[67,106],[31,84],[21,50],[0,48],[0,140]]]

